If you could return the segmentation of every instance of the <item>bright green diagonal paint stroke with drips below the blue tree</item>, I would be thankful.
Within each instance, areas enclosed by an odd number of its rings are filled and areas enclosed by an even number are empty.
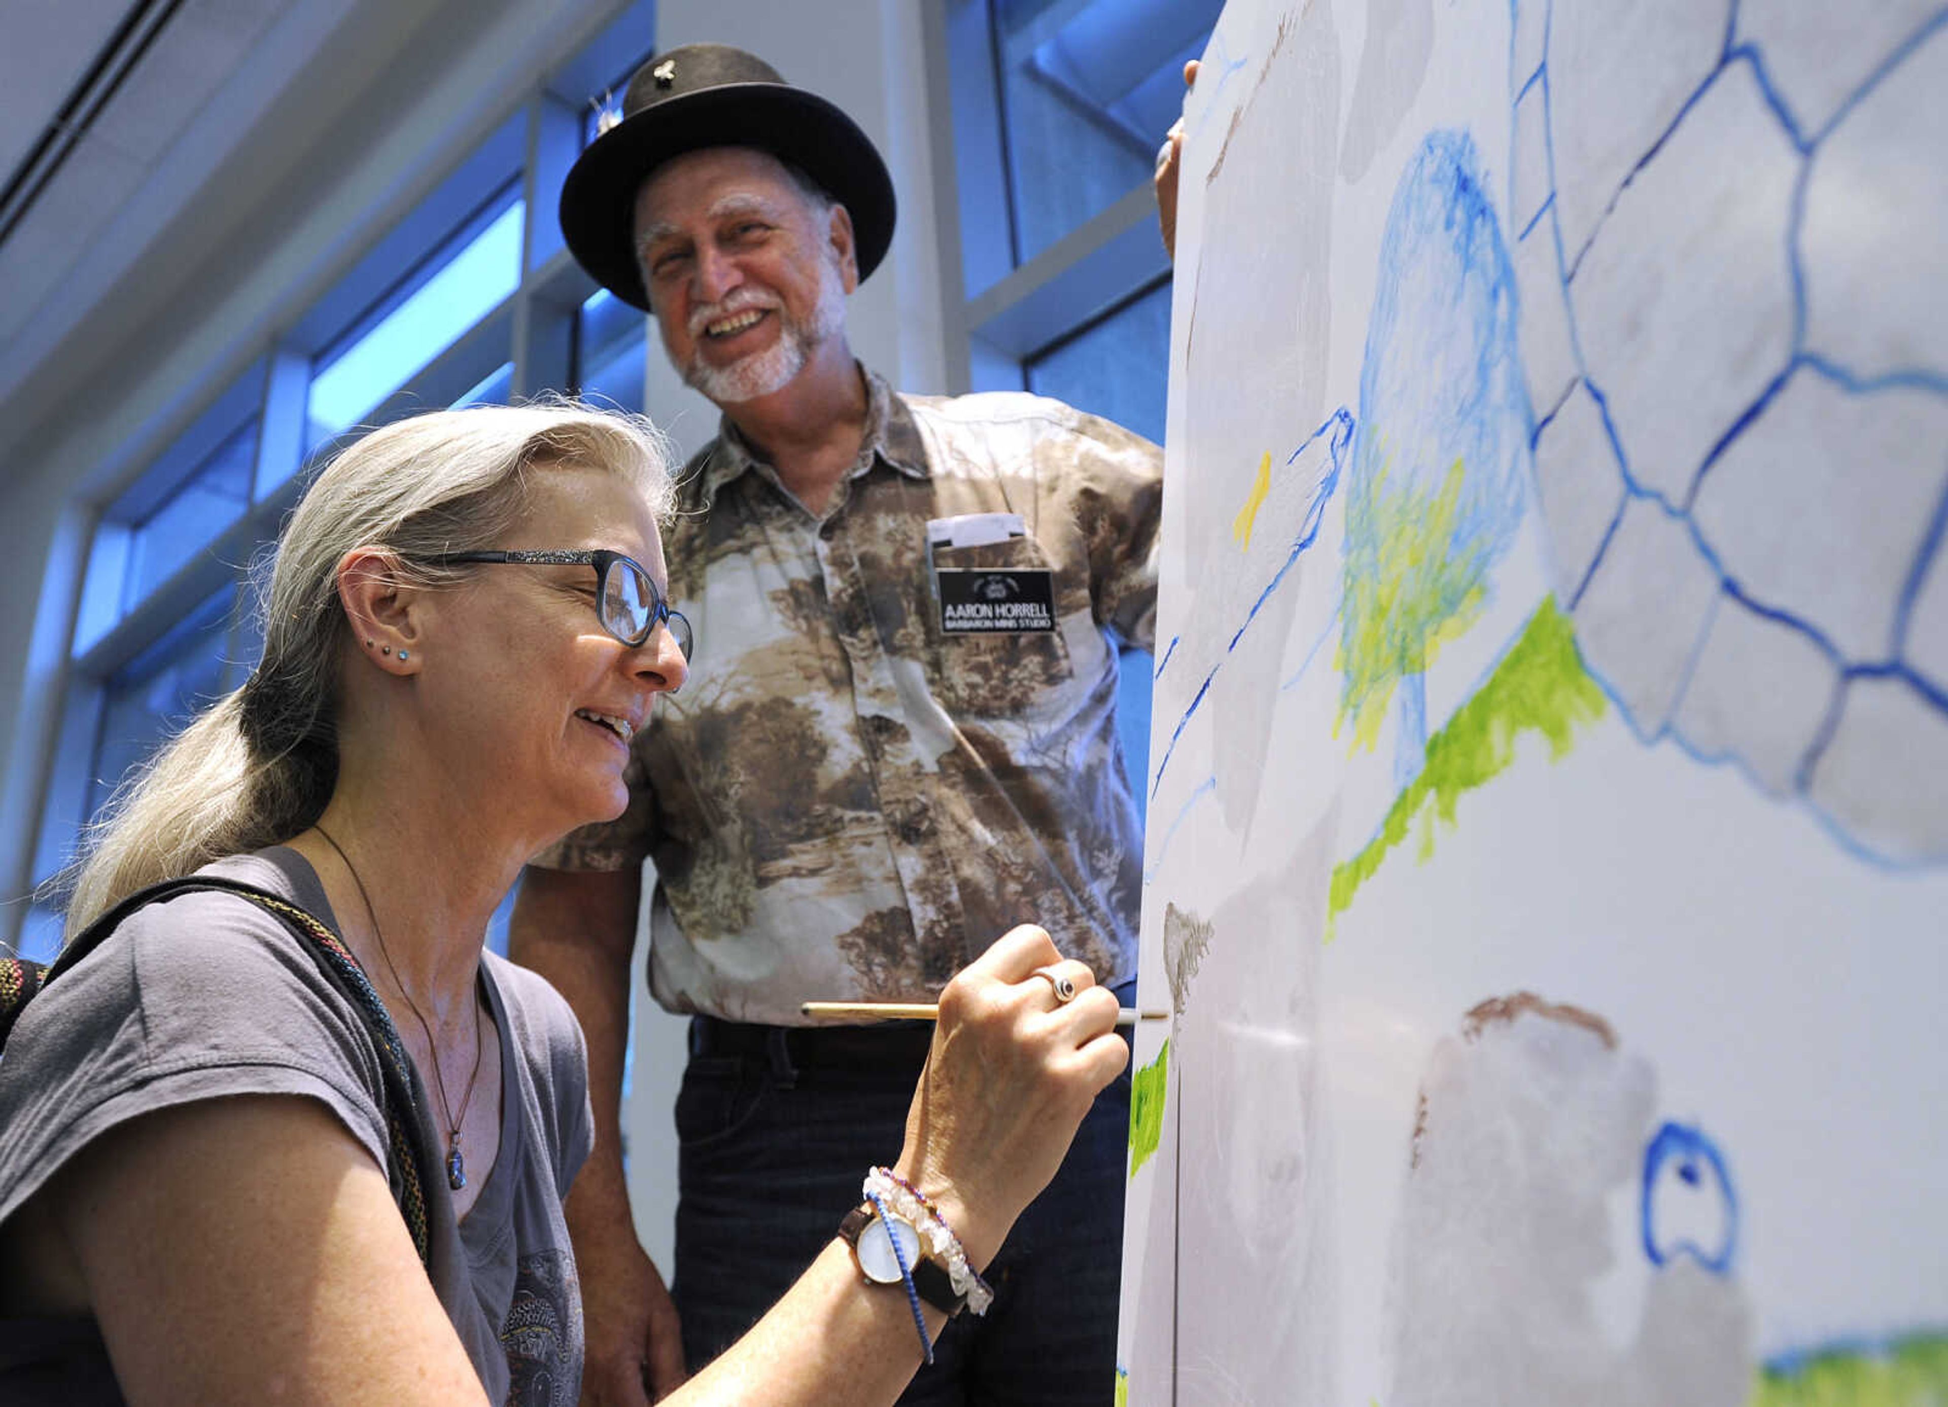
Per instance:
[[[1488,682],[1428,739],[1426,766],[1393,799],[1379,834],[1358,856],[1332,867],[1327,941],[1332,941],[1332,924],[1352,906],[1360,885],[1373,877],[1389,850],[1406,840],[1414,817],[1424,820],[1420,859],[1426,861],[1434,854],[1434,818],[1455,824],[1461,793],[1506,772],[1516,760],[1517,737],[1541,733],[1549,741],[1549,760],[1558,762],[1570,750],[1574,727],[1603,717],[1603,690],[1576,653],[1570,618],[1556,608],[1555,596],[1545,596]]]

